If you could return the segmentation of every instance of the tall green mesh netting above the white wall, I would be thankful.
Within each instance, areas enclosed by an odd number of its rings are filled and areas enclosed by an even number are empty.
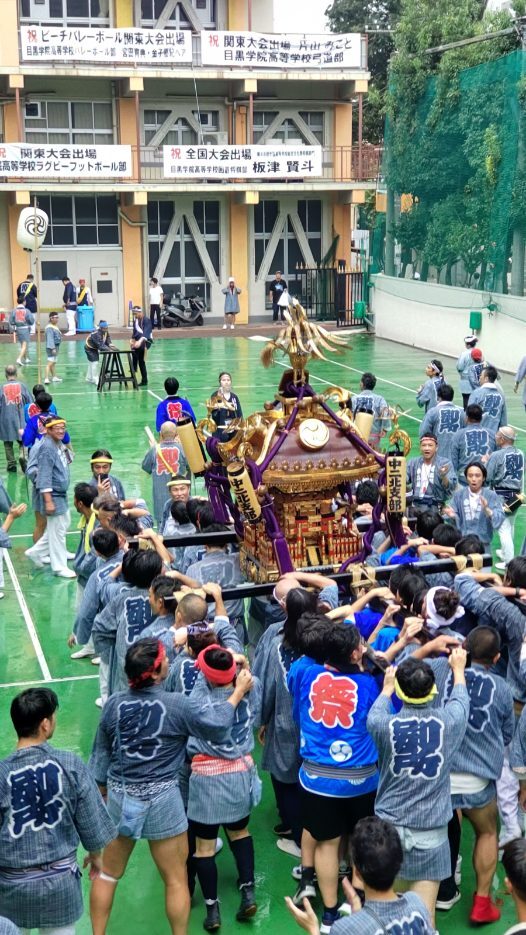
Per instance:
[[[387,122],[387,184],[413,196],[396,221],[402,268],[416,263],[423,280],[433,268],[440,282],[506,292],[510,257],[523,268],[525,72],[516,51],[428,79]]]

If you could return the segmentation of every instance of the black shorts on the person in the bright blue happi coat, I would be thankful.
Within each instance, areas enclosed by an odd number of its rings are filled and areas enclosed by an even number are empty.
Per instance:
[[[307,792],[300,786],[300,808],[303,827],[315,841],[330,841],[350,834],[360,818],[374,815],[376,792],[338,798]]]

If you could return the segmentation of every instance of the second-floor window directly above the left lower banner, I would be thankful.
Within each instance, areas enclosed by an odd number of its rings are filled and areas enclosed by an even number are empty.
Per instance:
[[[32,101],[26,104],[27,143],[113,143],[110,103]]]

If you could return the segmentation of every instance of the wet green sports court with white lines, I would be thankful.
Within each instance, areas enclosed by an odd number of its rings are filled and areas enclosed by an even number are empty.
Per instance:
[[[75,451],[70,490],[77,481],[89,478],[92,451],[107,447],[113,456],[112,473],[121,479],[126,494],[143,496],[150,501],[151,480],[141,471],[141,462],[148,447],[144,427],[155,426],[155,408],[164,396],[164,379],[169,375],[177,376],[181,395],[190,399],[196,415],[202,418],[206,415],[204,401],[216,388],[219,372],[227,369],[232,374],[233,390],[241,399],[243,411],[249,414],[261,408],[266,399],[272,398],[280,377],[279,365],[265,370],[259,361],[263,340],[263,336],[257,334],[243,336],[242,329],[236,330],[235,335],[228,333],[226,337],[209,337],[201,332],[199,336],[170,336],[158,340],[148,355],[148,387],[138,392],[112,387],[111,391],[103,394],[85,383],[83,340],[64,341],[57,366],[63,382],[54,384],[52,391],[59,414],[68,422]],[[341,357],[311,364],[311,383],[320,388],[339,384],[356,391],[360,374],[365,370],[373,371],[378,378],[377,392],[384,395],[391,405],[401,407],[405,415],[400,425],[415,442],[422,416],[415,402],[415,391],[423,380],[428,355],[425,351],[379,340],[365,333],[350,334],[349,342],[352,349]],[[123,340],[117,344],[125,346]],[[461,350],[459,347],[459,353]],[[14,356],[12,344],[0,344],[2,370],[6,364],[14,362]],[[458,402],[455,362],[445,359],[444,364],[446,379],[455,386],[455,401]],[[24,368],[22,379],[30,389],[37,382],[34,364]],[[503,374],[501,383],[508,401],[508,420],[518,429],[519,444],[523,444],[526,438],[524,407],[520,397],[512,393],[512,375]],[[4,475],[5,463],[2,464]],[[6,486],[15,502],[29,501],[27,482],[20,472],[8,474]],[[72,551],[78,536],[75,526],[76,514],[72,510]],[[66,639],[75,615],[76,585],[74,581],[52,577],[48,569],[35,570],[25,558],[24,550],[31,543],[31,529],[32,514],[28,511],[11,529],[13,548],[5,562],[5,598],[0,603],[0,755],[6,755],[15,744],[8,716],[12,697],[22,687],[47,683],[57,692],[60,701],[58,728],[53,742],[86,759],[100,713],[95,706],[97,670],[89,659],[70,659]],[[516,523],[517,549],[525,532],[526,521],[520,511]],[[290,875],[295,861],[275,846],[272,827],[277,821],[277,814],[270,781],[266,775],[263,778],[263,801],[251,821],[256,848],[259,909],[250,923],[234,921],[238,904],[235,865],[225,846],[218,857],[225,933],[251,928],[255,932],[272,931],[273,935],[283,935],[297,930],[283,902],[283,897],[292,894],[295,888]],[[471,928],[467,916],[473,893],[473,874],[469,866],[471,832],[467,828],[463,851],[462,900],[449,913],[437,914],[440,932],[455,932],[457,935]],[[489,935],[504,931],[515,919],[511,898],[504,895],[501,867],[498,878],[496,897],[503,902],[502,919],[486,927]],[[85,886],[87,890],[87,882]],[[203,915],[197,891],[189,926],[193,935],[202,931]],[[89,931],[91,927],[86,911],[78,923],[77,932],[86,935]],[[162,935],[168,932],[163,889],[145,842],[136,846],[126,877],[118,888],[109,931],[112,935],[124,932],[132,935],[139,931]]]

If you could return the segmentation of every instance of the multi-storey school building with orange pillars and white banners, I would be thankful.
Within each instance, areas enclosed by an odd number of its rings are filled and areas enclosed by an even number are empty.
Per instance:
[[[246,322],[276,269],[294,292],[331,248],[350,265],[378,168],[359,132],[366,37],[278,35],[277,2],[2,0],[0,305],[31,269],[16,231],[35,197],[42,309],[84,277],[124,324],[156,276],[213,320],[234,276]]]

